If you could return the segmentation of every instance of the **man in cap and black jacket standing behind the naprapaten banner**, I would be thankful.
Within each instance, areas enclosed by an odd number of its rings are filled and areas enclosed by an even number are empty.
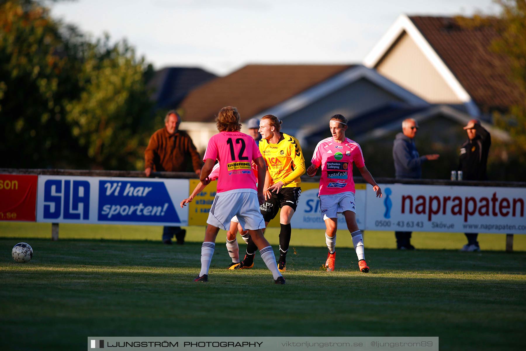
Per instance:
[[[491,145],[491,135],[480,125],[478,119],[471,119],[464,127],[468,140],[460,147],[458,171],[462,171],[464,180],[488,180],[486,166]],[[463,252],[480,251],[478,233],[464,233],[468,243],[460,250]]]

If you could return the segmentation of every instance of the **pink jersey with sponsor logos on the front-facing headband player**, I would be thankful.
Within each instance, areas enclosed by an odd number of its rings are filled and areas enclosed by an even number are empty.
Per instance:
[[[355,193],[355,181],[352,179],[352,163],[357,167],[365,166],[360,145],[346,138],[343,143],[335,143],[332,137],[323,139],[316,145],[311,163],[321,165],[319,195]]]

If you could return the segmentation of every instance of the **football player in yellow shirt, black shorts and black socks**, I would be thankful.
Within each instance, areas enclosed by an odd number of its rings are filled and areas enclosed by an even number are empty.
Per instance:
[[[305,173],[305,159],[298,140],[281,133],[280,129],[281,121],[274,115],[266,115],[259,122],[259,151],[267,163],[265,202],[259,209],[265,218],[265,225],[268,225],[281,208],[278,269],[285,272],[291,233],[290,220],[301,195],[300,176]],[[256,245],[249,239],[245,259],[235,269],[254,267],[256,251]]]

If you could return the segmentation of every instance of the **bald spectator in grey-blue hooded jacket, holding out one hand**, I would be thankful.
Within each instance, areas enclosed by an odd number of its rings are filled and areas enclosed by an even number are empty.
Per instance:
[[[418,123],[413,118],[404,119],[402,133],[398,133],[393,143],[393,160],[395,161],[396,178],[420,179],[422,177],[422,163],[438,159],[438,154],[420,156],[414,145]],[[411,245],[411,232],[395,232],[397,248],[399,250],[414,250]]]

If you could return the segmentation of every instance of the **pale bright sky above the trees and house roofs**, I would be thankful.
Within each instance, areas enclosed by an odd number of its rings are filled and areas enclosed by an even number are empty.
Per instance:
[[[76,0],[52,15],[126,38],[155,69],[226,75],[247,64],[357,64],[400,14],[495,14],[491,0]]]

